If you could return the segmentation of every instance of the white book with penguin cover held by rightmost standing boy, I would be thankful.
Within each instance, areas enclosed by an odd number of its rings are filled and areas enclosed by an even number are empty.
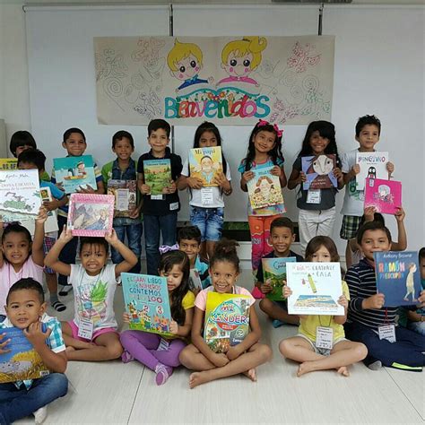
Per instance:
[[[364,190],[366,178],[388,179],[386,163],[388,152],[357,152],[356,163],[360,166],[360,173],[356,176],[357,190]]]

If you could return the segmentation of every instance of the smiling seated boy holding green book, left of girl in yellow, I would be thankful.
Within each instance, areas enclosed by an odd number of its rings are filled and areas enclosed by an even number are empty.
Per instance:
[[[263,258],[287,258],[293,256],[297,262],[304,261],[302,256],[291,251],[291,244],[295,240],[294,225],[287,217],[278,217],[272,221],[270,226],[269,243],[273,247],[273,251]],[[258,288],[265,296],[273,290],[270,282],[265,280],[263,273],[263,262],[258,265],[256,272],[256,288]],[[273,320],[273,327],[279,327],[285,323],[291,325],[299,324],[299,317],[288,314],[288,303],[284,301],[272,301],[263,298],[259,304],[265,314]]]

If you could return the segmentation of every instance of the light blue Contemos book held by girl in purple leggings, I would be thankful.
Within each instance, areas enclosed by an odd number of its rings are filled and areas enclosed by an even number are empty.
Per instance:
[[[167,279],[148,274],[121,273],[130,329],[170,335],[172,321]]]

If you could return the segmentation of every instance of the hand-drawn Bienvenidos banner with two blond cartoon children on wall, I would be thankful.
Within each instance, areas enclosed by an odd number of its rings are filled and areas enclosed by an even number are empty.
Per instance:
[[[333,36],[102,37],[94,50],[100,124],[331,117]]]

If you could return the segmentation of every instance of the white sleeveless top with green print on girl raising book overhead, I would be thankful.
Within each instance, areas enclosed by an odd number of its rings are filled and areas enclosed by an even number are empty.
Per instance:
[[[69,282],[74,289],[74,324],[80,317],[93,322],[93,331],[105,327],[117,329],[114,295],[117,289],[115,265],[105,265],[97,276],[90,276],[82,265],[71,265]]]

